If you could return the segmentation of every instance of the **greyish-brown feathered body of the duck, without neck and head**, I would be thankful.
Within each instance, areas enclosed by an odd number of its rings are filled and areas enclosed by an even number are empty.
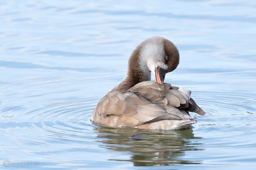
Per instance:
[[[196,121],[189,111],[204,115],[186,89],[168,83],[140,82],[127,91],[106,94],[92,113],[92,121],[111,127],[174,130]]]

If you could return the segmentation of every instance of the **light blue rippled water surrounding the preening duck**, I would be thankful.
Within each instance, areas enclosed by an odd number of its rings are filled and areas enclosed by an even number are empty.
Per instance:
[[[253,0],[1,1],[0,167],[254,169],[255,11]],[[191,90],[207,114],[180,131],[91,124],[131,52],[155,35],[180,51],[165,82]]]

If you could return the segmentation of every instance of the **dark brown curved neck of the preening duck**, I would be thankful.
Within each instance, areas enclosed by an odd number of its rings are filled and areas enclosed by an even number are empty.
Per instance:
[[[145,82],[151,80],[151,72],[143,71],[139,64],[139,55],[140,55],[141,46],[137,46],[137,48],[132,52],[131,57],[128,62],[128,71],[125,79],[122,80],[116,87],[114,87],[110,92],[113,91],[126,91],[139,82]]]

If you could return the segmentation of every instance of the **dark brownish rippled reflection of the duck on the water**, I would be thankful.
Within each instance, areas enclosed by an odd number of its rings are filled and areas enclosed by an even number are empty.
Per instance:
[[[182,131],[140,131],[132,128],[95,127],[100,147],[117,152],[130,152],[130,159],[113,158],[113,161],[130,161],[134,166],[169,164],[200,164],[201,161],[184,159],[185,151],[198,150],[188,139],[199,139],[192,128]],[[133,134],[131,136],[131,134]],[[136,140],[133,140],[134,135]],[[197,143],[199,144],[199,143]]]

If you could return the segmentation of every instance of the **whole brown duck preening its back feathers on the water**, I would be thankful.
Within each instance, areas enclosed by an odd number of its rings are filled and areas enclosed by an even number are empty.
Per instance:
[[[189,112],[205,115],[191,91],[164,83],[166,73],[177,68],[180,54],[166,38],[141,42],[128,60],[126,77],[96,105],[93,124],[139,130],[182,130],[197,121]],[[151,73],[156,82],[151,81]]]

